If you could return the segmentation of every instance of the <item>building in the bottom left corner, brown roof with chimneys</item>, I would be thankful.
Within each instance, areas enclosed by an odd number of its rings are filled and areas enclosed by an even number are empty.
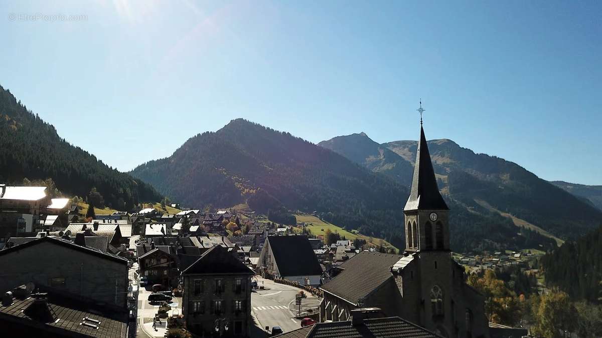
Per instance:
[[[40,292],[31,293],[31,289]],[[2,294],[2,337],[128,337],[125,311],[87,303],[31,283],[2,290]]]

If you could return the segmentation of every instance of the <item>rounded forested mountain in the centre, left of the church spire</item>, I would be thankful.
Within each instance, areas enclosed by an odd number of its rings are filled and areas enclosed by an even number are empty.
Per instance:
[[[267,212],[326,213],[326,220],[389,239],[399,233],[408,189],[330,150],[246,120],[186,141],[132,175],[191,206],[247,201]],[[398,244],[399,245],[399,244]]]

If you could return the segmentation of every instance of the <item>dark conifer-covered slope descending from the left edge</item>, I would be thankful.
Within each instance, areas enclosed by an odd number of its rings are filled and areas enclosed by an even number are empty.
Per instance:
[[[0,87],[0,183],[19,184],[24,178],[51,178],[60,191],[82,197],[96,188],[105,204],[120,210],[161,200],[152,186],[67,143],[54,126]]]

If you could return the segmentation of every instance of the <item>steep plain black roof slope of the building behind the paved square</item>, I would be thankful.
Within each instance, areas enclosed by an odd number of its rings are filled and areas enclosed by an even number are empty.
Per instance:
[[[320,263],[307,237],[268,236],[267,241],[282,277],[322,274]]]

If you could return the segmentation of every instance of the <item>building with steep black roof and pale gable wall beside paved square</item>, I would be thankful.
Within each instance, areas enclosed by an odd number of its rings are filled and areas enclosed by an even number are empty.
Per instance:
[[[321,283],[322,268],[306,236],[268,236],[257,267],[302,285]]]

